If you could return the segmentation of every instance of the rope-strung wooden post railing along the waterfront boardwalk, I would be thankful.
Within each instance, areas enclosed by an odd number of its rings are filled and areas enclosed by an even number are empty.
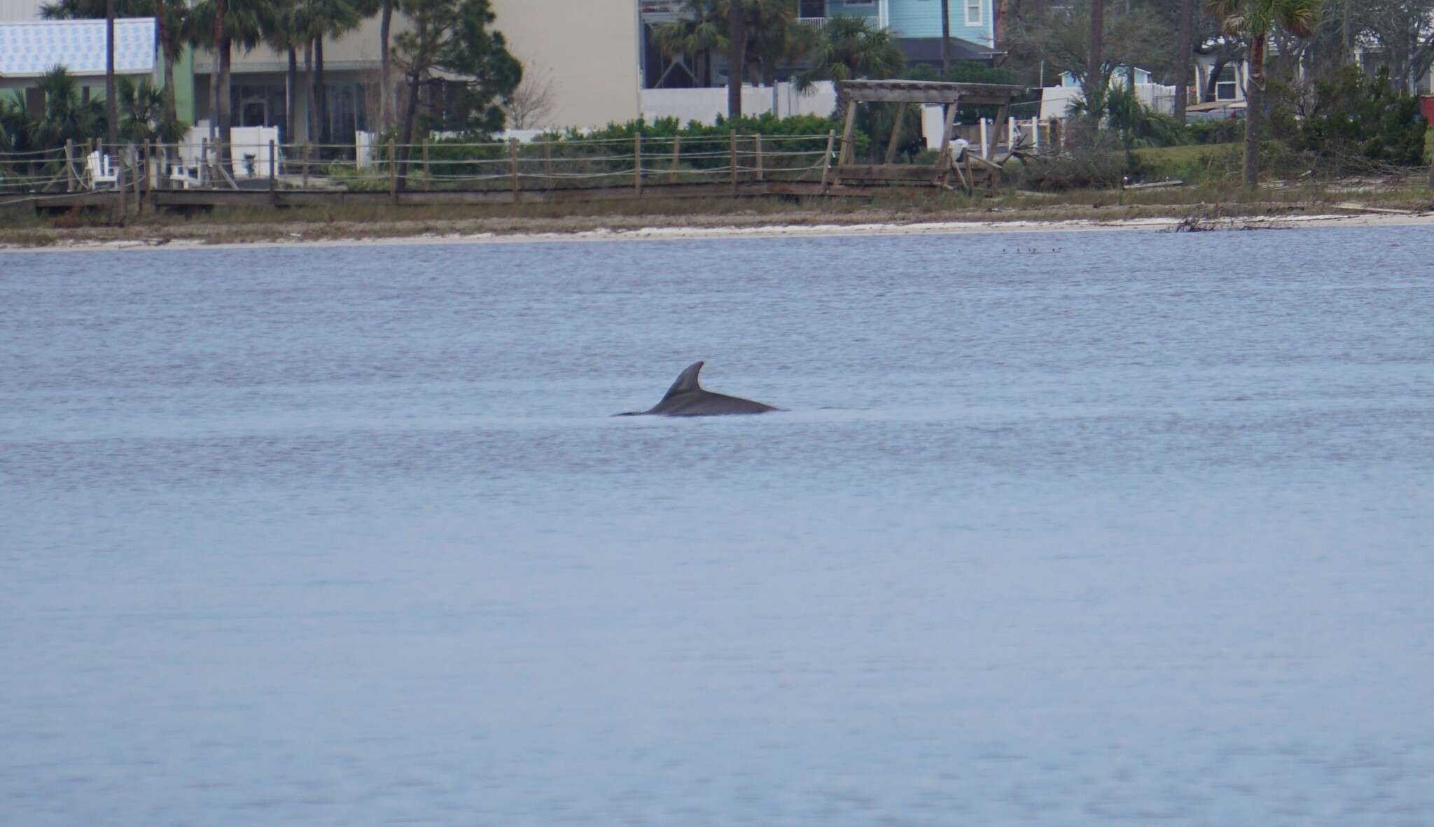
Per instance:
[[[645,136],[532,143],[67,143],[0,153],[0,202],[85,191],[271,189],[500,192],[644,188],[683,183],[826,182],[835,133]]]

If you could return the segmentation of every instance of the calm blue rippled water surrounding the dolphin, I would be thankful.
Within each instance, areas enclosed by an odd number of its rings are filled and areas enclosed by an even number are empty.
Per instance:
[[[0,823],[1428,824],[1430,249],[0,254]]]

